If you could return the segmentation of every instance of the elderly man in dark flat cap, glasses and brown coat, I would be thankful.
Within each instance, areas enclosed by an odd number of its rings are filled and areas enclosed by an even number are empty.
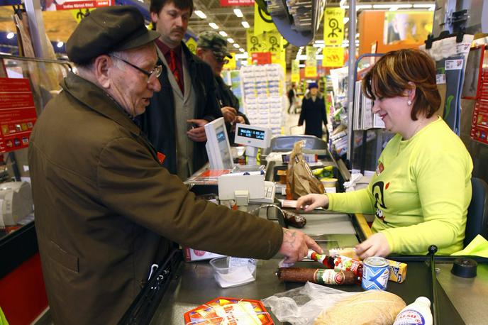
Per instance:
[[[132,6],[96,9],[67,42],[77,65],[28,152],[35,228],[55,324],[116,324],[171,241],[291,262],[321,248],[300,231],[195,199],[133,118],[160,90],[153,40]]]

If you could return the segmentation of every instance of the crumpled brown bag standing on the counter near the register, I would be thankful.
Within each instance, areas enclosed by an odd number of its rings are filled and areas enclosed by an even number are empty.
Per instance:
[[[293,145],[288,163],[287,194],[290,191],[293,199],[310,193],[323,194],[326,192],[323,184],[312,174],[309,165],[303,158],[301,152],[303,145],[304,141],[298,141]]]

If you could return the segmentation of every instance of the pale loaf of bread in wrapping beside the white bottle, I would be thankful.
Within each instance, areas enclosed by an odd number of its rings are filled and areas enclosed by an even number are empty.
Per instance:
[[[404,300],[397,294],[369,290],[342,299],[323,310],[314,325],[391,325],[405,306]]]

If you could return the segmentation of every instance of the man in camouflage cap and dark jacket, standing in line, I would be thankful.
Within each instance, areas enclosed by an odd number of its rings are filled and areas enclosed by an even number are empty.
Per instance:
[[[232,58],[227,50],[227,40],[218,33],[209,31],[198,35],[196,46],[196,56],[210,65],[214,72],[217,100],[223,119],[226,120],[228,138],[232,145],[235,138],[235,123],[249,124],[249,120],[239,111],[239,99],[221,77],[223,65],[228,62],[226,57]]]

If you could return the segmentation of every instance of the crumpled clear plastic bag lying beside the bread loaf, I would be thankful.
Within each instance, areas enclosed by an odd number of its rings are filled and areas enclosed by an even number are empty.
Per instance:
[[[314,324],[314,320],[323,309],[333,306],[340,299],[350,297],[357,292],[341,290],[306,282],[302,287],[277,293],[262,302],[270,307],[279,321],[288,321],[294,325]]]

